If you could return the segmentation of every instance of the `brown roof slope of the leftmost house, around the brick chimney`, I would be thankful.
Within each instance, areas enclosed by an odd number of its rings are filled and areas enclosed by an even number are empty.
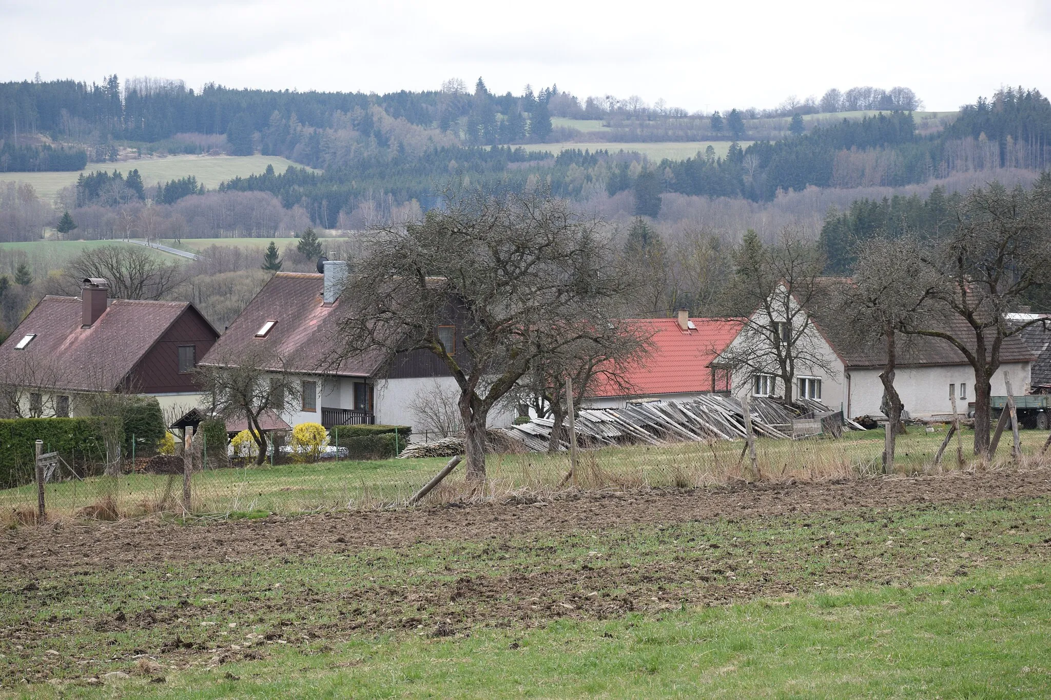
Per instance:
[[[55,388],[111,391],[190,304],[112,300],[89,328],[82,328],[78,297],[46,296],[0,345],[0,368],[17,381],[21,363],[49,368]],[[15,346],[27,334],[24,349]]]

